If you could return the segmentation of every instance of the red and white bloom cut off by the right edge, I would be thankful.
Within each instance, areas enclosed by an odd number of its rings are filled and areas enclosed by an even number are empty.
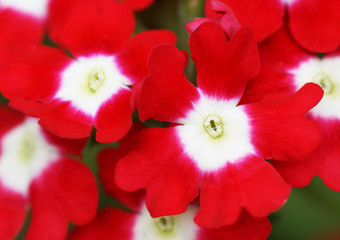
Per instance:
[[[321,130],[320,145],[302,162],[274,162],[284,179],[294,187],[304,187],[315,175],[333,190],[340,190],[340,54],[319,58],[301,49],[281,29],[260,45],[262,69],[247,86],[242,102],[255,102],[270,93],[294,93],[303,84],[314,82],[324,90],[320,103],[308,118]]]

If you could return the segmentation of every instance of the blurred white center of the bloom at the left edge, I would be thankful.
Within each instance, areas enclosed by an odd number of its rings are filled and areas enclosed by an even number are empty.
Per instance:
[[[0,181],[23,195],[27,194],[31,181],[59,156],[34,118],[27,118],[3,136],[1,150]]]

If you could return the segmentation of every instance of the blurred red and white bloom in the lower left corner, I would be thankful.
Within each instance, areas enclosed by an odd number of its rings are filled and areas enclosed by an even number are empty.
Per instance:
[[[13,239],[32,210],[28,239],[63,239],[68,223],[95,215],[96,181],[80,156],[85,140],[64,140],[37,119],[0,107],[0,238]]]

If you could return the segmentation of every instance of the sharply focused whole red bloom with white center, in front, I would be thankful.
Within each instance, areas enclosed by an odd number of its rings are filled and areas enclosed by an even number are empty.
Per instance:
[[[227,41],[219,25],[203,23],[189,45],[198,88],[186,80],[185,56],[174,46],[151,53],[140,117],[174,124],[139,132],[136,148],[117,164],[117,184],[128,191],[145,188],[152,217],[183,213],[199,195],[200,226],[233,224],[243,208],[263,218],[290,193],[264,159],[301,161],[316,147],[318,129],[304,115],[322,90],[307,84],[292,96],[239,105],[246,82],[259,70],[251,29],[241,28]]]

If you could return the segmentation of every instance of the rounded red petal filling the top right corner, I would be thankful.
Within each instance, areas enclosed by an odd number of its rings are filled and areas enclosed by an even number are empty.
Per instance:
[[[295,40],[313,52],[331,52],[340,45],[340,2],[298,0],[288,7],[289,27]]]

